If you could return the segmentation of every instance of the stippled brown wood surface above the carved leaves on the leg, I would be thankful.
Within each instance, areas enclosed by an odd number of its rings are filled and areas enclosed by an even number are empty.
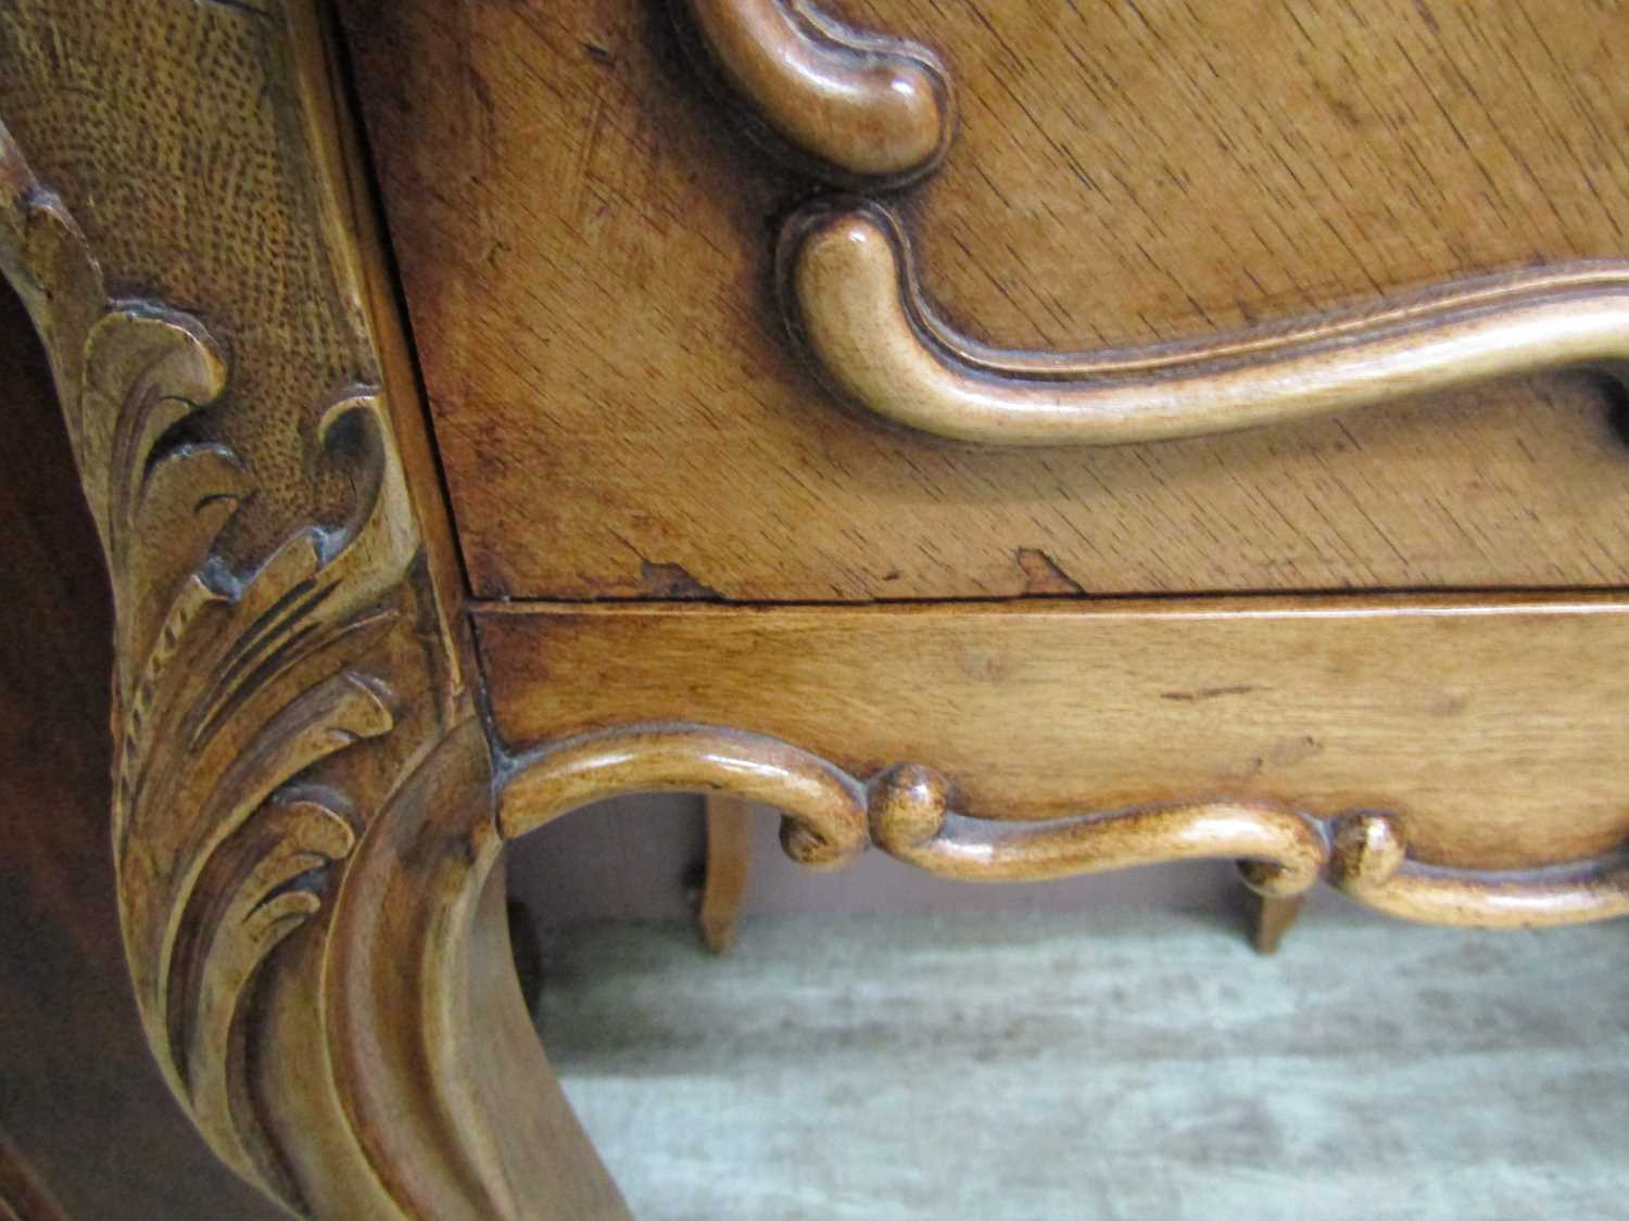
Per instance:
[[[310,461],[313,425],[337,387],[380,381],[313,181],[287,156],[298,111],[270,104],[292,72],[279,23],[270,3],[0,7],[7,124],[72,202],[109,295],[189,309],[230,355],[210,430],[259,474],[223,531],[239,562],[288,521],[350,511],[345,472]]]

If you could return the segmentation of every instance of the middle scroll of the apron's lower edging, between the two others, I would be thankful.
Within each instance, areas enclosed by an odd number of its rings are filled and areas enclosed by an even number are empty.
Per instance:
[[[1323,830],[1259,803],[1199,801],[1000,822],[955,812],[950,783],[919,764],[870,783],[872,837],[889,856],[968,882],[1033,882],[1161,861],[1236,858],[1269,897],[1310,889],[1329,858]]]

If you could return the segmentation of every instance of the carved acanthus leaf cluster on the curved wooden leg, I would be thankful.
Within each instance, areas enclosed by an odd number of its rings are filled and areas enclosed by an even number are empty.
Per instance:
[[[396,723],[381,643],[412,627],[420,545],[401,464],[376,394],[340,389],[314,449],[357,472],[350,519],[296,529],[251,568],[226,560],[217,542],[254,472],[191,428],[226,358],[199,319],[109,300],[3,129],[0,166],[3,270],[46,340],[112,583],[112,832],[137,1003],[215,1151],[296,1203],[252,1104],[244,1022],[381,796],[323,765]]]

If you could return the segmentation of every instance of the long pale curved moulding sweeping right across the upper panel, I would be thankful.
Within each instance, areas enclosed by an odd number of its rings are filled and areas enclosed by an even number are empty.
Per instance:
[[[823,200],[779,251],[793,337],[850,402],[977,444],[1126,444],[1306,420],[1552,368],[1629,360],[1629,264],[1460,280],[1385,308],[1217,339],[1000,350],[937,317],[885,207]]]

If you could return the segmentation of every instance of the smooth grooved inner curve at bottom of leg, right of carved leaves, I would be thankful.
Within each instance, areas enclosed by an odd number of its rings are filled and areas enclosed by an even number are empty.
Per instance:
[[[520,993],[490,793],[485,739],[464,721],[357,847],[324,972],[345,1115],[318,1131],[349,1127],[412,1218],[622,1216]],[[310,1014],[298,1006],[295,1029]],[[321,1156],[313,1141],[306,1158]]]

